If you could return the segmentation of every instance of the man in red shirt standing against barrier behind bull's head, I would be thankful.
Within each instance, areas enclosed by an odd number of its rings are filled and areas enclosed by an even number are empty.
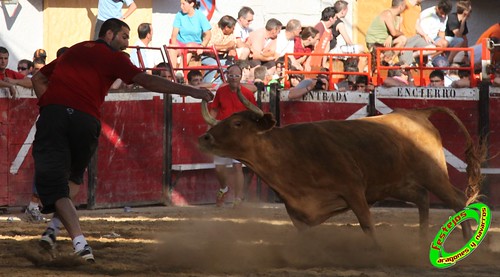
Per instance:
[[[244,111],[247,108],[238,99],[236,92],[241,90],[241,93],[254,105],[256,104],[255,96],[246,87],[240,84],[243,71],[238,65],[231,65],[227,68],[227,85],[221,86],[216,94],[214,101],[210,104],[210,114],[217,120],[223,120],[233,113]],[[224,204],[229,188],[228,177],[234,176],[234,202],[233,207],[241,204],[243,199],[243,169],[241,163],[230,158],[214,156],[215,173],[219,180],[220,189],[217,192],[216,206],[220,207]],[[228,171],[227,166],[232,165],[233,174]]]

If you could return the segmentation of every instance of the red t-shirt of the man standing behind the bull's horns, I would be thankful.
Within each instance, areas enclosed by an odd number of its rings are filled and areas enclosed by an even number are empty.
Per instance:
[[[255,96],[249,89],[241,86],[241,93],[246,99],[250,100],[250,102],[254,105],[257,105]],[[243,103],[241,103],[236,92],[231,91],[229,85],[224,85],[217,89],[214,101],[210,103],[210,108],[218,111],[217,120],[223,120],[233,113],[241,112],[247,109]]]

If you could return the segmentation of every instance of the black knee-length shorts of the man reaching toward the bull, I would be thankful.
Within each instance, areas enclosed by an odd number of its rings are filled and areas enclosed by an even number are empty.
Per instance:
[[[97,149],[101,123],[93,116],[62,105],[40,109],[33,142],[35,184],[42,213],[55,212],[55,202],[69,198],[68,181],[83,183]]]

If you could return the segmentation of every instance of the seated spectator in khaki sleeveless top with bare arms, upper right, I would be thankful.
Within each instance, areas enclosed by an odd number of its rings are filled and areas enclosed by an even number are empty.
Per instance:
[[[375,47],[404,47],[406,37],[400,30],[400,14],[405,10],[405,0],[392,0],[390,9],[384,10],[372,21],[366,31],[366,46],[370,52]],[[399,51],[395,51],[396,55]]]

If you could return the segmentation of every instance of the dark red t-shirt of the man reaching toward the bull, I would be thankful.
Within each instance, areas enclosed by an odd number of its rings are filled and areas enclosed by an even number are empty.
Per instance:
[[[142,72],[125,54],[102,40],[75,44],[40,71],[50,80],[38,101],[40,107],[64,105],[98,119],[113,82],[120,78],[130,84]]]

